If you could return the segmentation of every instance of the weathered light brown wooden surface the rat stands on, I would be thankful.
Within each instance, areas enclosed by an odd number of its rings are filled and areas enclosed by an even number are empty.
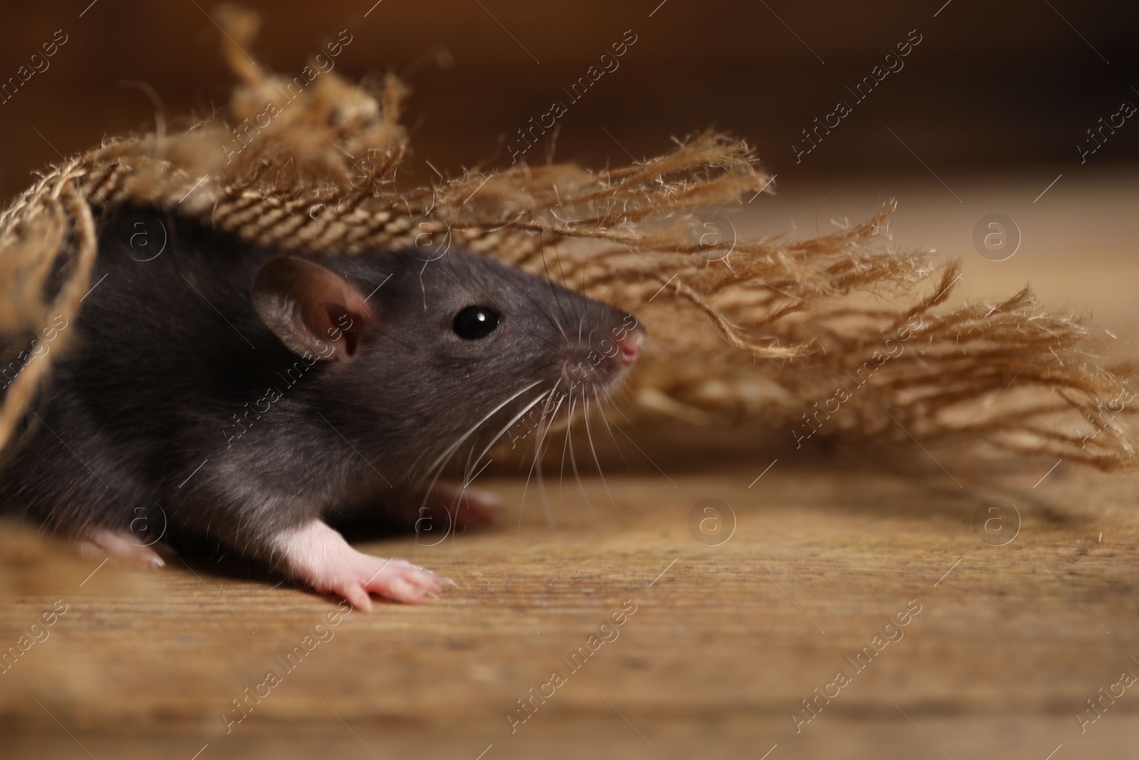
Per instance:
[[[1136,182],[1065,177],[1044,196],[1051,206],[1033,206],[1052,177],[970,187],[945,175],[961,204],[931,180],[903,195],[899,243],[972,256],[972,293],[1042,289],[1041,279],[1130,341],[1136,222],[1122,211],[1134,207]],[[859,215],[878,187],[829,198],[819,218],[843,206]],[[825,190],[800,202],[792,187],[753,223],[813,219]],[[1005,267],[968,243],[992,211],[1024,228]],[[531,489],[519,528],[523,483],[487,480],[508,505],[500,526],[437,546],[366,545],[459,587],[327,630],[316,626],[335,604],[298,589],[177,561],[140,574],[7,525],[0,647],[57,599],[67,612],[0,675],[0,757],[1136,757],[1139,690],[1083,734],[1075,716],[1122,671],[1139,675],[1139,480],[917,446],[702,466],[695,443],[659,458],[644,443],[667,474],[645,461],[607,469],[612,504],[596,475],[582,479],[587,504],[551,473],[549,516]],[[704,499],[735,516],[720,546],[690,532]],[[982,540],[993,505],[1002,529],[1019,523],[1006,546]],[[631,604],[616,638],[572,672],[560,657]],[[854,672],[845,657],[908,605],[920,613],[902,638]],[[331,638],[286,671],[278,657],[314,629]],[[231,700],[270,670],[281,683],[227,734]],[[503,713],[554,670],[566,683],[511,733]],[[851,683],[796,734],[788,713],[837,670]]]

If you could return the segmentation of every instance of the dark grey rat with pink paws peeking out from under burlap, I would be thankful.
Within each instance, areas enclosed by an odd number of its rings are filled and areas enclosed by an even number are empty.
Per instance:
[[[645,342],[631,316],[486,256],[285,254],[150,210],[103,220],[91,283],[0,509],[151,565],[132,521],[161,512],[362,608],[442,581],[328,518],[428,496],[490,518],[441,468],[539,404],[609,392]]]

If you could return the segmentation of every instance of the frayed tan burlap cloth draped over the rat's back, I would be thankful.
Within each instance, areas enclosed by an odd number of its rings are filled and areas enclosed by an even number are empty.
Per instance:
[[[50,317],[74,321],[99,210],[150,204],[281,248],[461,247],[606,299],[653,336],[631,379],[634,416],[796,440],[825,420],[820,435],[989,441],[1100,469],[1134,465],[1120,420],[1134,365],[1103,365],[1090,332],[1046,313],[1027,288],[949,308],[959,264],[932,278],[923,253],[891,248],[888,206],[804,242],[729,240],[721,229],[710,243],[703,213],[772,191],[745,142],[711,132],[597,173],[519,164],[400,188],[399,80],[371,92],[330,72],[311,84],[273,75],[244,52],[256,16],[222,7],[215,17],[240,79],[229,116],[248,139],[211,119],[107,140],[21,195],[0,214],[5,365]],[[251,129],[289,83],[294,99]],[[71,334],[60,337],[8,386],[0,447]]]

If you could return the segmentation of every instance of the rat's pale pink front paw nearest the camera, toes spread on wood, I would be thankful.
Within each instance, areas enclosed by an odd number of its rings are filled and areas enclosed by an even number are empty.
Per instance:
[[[404,559],[361,554],[319,520],[281,533],[276,544],[295,577],[361,610],[371,610],[369,594],[418,604],[443,590],[444,581],[435,573]]]

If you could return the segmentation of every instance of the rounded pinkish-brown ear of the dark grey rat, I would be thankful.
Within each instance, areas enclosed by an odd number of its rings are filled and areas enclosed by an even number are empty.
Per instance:
[[[375,320],[359,289],[319,264],[296,256],[270,259],[253,278],[253,308],[293,352],[345,361]]]

